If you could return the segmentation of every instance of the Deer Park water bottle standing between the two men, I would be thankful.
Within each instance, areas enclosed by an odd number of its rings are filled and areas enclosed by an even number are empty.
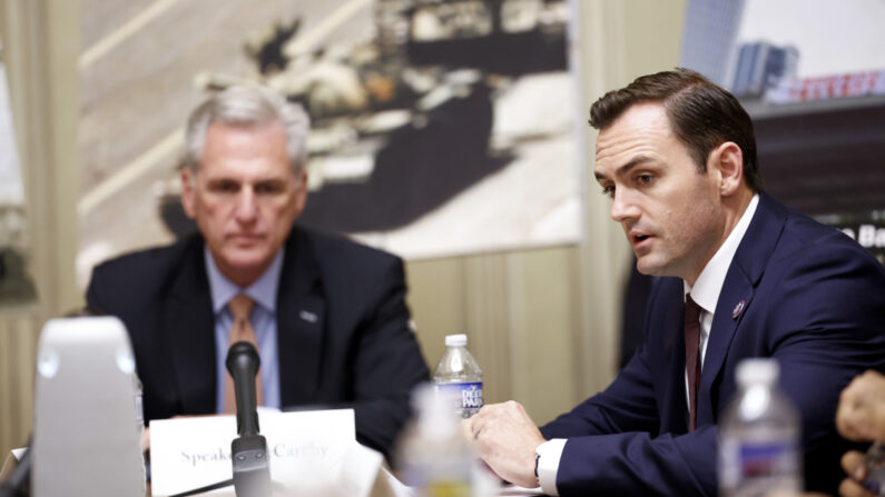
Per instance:
[[[466,335],[445,337],[445,354],[433,371],[440,391],[454,396],[455,411],[469,418],[482,407],[482,370],[468,351]]]

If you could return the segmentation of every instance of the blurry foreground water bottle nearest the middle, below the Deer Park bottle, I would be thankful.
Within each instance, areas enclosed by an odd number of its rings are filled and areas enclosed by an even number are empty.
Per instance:
[[[406,425],[396,451],[402,481],[416,497],[471,497],[475,456],[461,434],[452,399],[430,385],[412,396],[415,417]]]

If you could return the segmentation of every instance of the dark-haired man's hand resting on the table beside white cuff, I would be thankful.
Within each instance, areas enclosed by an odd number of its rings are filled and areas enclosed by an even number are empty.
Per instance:
[[[538,486],[534,449],[545,440],[521,404],[483,406],[461,428],[498,476],[521,487]]]

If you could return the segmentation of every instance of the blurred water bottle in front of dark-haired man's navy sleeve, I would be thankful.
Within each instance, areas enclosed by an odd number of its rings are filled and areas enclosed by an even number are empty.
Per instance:
[[[740,390],[719,425],[720,497],[802,491],[802,421],[778,388],[778,375],[774,359],[737,367]]]

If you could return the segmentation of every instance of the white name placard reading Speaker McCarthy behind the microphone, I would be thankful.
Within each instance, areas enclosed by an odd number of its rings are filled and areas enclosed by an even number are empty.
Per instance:
[[[271,478],[287,487],[340,477],[358,447],[353,409],[260,411],[258,423],[267,439]],[[230,479],[230,441],[236,437],[235,416],[151,421],[151,493],[174,495]]]

